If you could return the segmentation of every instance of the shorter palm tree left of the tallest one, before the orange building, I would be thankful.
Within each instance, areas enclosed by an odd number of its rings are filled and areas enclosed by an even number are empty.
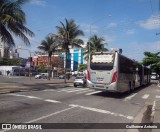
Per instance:
[[[47,52],[48,54],[48,80],[50,80],[50,66],[51,66],[51,57],[52,54],[57,50],[59,46],[59,43],[57,42],[57,38],[49,34],[45,38],[45,40],[42,40],[41,45],[38,46],[38,48],[42,51]]]

